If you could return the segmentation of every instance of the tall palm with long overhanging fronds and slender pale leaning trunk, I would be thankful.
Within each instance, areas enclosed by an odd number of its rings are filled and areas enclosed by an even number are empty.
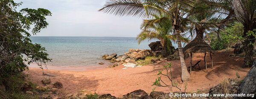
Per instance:
[[[117,16],[152,17],[164,13],[172,19],[172,28],[177,38],[180,55],[181,79],[190,81],[190,75],[185,64],[182,51],[180,33],[183,32],[182,24],[185,23],[187,13],[194,7],[196,0],[107,0],[105,6],[99,11]]]

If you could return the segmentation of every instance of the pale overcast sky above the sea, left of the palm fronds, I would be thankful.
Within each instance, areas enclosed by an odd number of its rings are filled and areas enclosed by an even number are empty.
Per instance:
[[[20,8],[46,8],[48,27],[37,36],[136,37],[142,19],[98,12],[106,0],[15,0]]]

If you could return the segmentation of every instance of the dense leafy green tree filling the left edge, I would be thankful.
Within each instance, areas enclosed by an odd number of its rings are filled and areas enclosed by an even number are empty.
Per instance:
[[[26,63],[35,62],[42,66],[51,60],[47,58],[45,48],[32,43],[28,32],[31,30],[35,35],[46,28],[48,23],[45,17],[51,16],[51,12],[43,8],[17,11],[21,4],[0,0],[0,83],[6,88],[6,79],[28,69]]]

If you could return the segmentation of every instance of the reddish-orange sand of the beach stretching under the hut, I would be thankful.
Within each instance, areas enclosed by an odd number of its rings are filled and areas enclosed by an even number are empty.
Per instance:
[[[208,73],[204,71],[192,71],[191,81],[187,84],[188,91],[196,91],[198,89],[207,89],[212,86],[218,85],[218,83],[225,78],[235,78],[236,72],[240,76],[246,76],[250,68],[242,68],[243,58],[239,57],[229,57],[231,51],[221,51],[212,55],[214,68],[211,67],[211,62],[209,56],[207,56],[207,66]],[[200,67],[205,70],[204,67],[204,54],[194,54],[193,64],[198,60],[200,62]],[[172,73],[173,77],[177,82],[178,86],[184,89],[184,86],[180,80],[181,68],[180,61],[169,61],[172,62]],[[131,91],[142,89],[147,93],[150,93],[155,86],[151,86],[152,82],[157,78],[158,70],[161,70],[163,65],[168,62],[163,62],[157,65],[148,65],[141,68],[128,68],[123,70],[123,66],[119,65],[116,68],[103,68],[94,70],[82,70],[82,68],[76,68],[75,70],[68,71],[68,68],[57,69],[52,68],[47,70],[48,73],[55,75],[52,77],[52,82],[62,82],[64,88],[61,91],[64,94],[75,93],[81,89],[87,89],[89,91],[95,91],[99,94],[111,93],[113,96],[120,97]],[[186,59],[186,65],[189,66],[190,59]],[[49,68],[49,67],[48,67]],[[77,71],[76,71],[77,70]],[[45,70],[46,71],[46,70]],[[42,70],[40,68],[30,68],[26,72],[30,74],[30,79],[32,82],[42,85],[41,80],[46,77],[42,75]],[[163,78],[166,83],[169,81]],[[170,83],[169,83],[170,84]],[[172,88],[176,91],[175,88]],[[155,91],[169,92],[171,88],[169,87],[157,87]]]

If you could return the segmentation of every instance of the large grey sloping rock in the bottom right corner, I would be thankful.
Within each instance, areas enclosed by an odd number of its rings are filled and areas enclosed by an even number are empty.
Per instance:
[[[254,60],[252,68],[239,86],[238,93],[256,94],[256,60]],[[244,97],[238,97],[238,99],[242,98]]]

